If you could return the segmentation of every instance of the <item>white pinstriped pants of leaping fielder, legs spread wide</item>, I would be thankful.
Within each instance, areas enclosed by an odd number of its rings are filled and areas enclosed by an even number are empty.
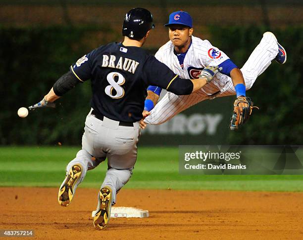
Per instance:
[[[271,35],[263,36],[247,62],[241,68],[246,84],[246,90],[249,90],[253,86],[256,78],[268,68],[271,61],[277,56],[277,54],[278,44],[276,39]],[[217,79],[213,79],[212,81],[216,80]],[[216,97],[235,95],[236,91],[231,78],[228,77],[226,85],[222,89],[218,89],[218,91],[220,92]],[[201,89],[190,95],[178,96],[172,92],[167,92],[152,109],[151,115],[144,121],[153,125],[164,123],[189,107],[212,98],[213,96],[211,96],[211,94],[214,93],[215,92],[207,94]]]

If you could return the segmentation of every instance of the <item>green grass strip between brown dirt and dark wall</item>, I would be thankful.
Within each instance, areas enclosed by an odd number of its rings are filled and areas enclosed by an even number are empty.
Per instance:
[[[78,148],[1,147],[0,186],[58,187]],[[88,171],[82,187],[99,188],[107,164]],[[178,148],[139,147],[129,189],[303,191],[302,175],[180,175]]]

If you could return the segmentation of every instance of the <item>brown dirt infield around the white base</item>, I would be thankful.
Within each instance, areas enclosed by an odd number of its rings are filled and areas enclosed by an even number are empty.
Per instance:
[[[91,217],[97,194],[79,188],[63,208],[54,188],[0,188],[0,229],[35,230],[29,239],[303,239],[303,193],[121,190],[116,206],[150,217],[112,218],[102,231]]]

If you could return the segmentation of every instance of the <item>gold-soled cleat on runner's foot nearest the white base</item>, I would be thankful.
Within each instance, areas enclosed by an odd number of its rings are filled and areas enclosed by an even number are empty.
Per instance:
[[[94,226],[96,229],[104,229],[109,222],[111,209],[112,191],[110,187],[104,187],[100,190],[98,207],[94,217]]]

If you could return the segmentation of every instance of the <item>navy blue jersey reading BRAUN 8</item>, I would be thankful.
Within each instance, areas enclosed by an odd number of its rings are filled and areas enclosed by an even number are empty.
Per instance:
[[[95,111],[124,122],[142,119],[148,85],[167,89],[179,78],[144,49],[117,42],[84,55],[70,69],[79,80],[91,80]]]

